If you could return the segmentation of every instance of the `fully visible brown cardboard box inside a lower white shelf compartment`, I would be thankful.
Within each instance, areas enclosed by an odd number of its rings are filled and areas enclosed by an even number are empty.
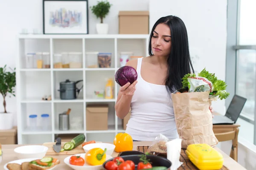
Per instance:
[[[87,105],[86,130],[108,130],[108,105]]]

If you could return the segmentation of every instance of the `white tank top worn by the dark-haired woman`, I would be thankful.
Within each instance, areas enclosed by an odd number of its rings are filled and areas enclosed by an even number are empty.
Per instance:
[[[143,58],[137,62],[137,85],[131,100],[131,117],[125,133],[137,141],[153,141],[162,133],[169,139],[179,138],[172,100],[165,85],[146,82],[140,74]]]

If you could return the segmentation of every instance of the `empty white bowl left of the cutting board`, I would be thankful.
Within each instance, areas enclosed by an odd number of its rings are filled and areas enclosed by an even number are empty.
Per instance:
[[[18,159],[28,159],[28,158],[43,158],[47,153],[48,147],[43,145],[27,145],[16,147],[14,152]]]

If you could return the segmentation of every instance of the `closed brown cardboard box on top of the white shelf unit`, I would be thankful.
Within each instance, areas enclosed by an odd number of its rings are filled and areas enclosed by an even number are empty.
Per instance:
[[[119,34],[149,34],[149,11],[119,11]]]

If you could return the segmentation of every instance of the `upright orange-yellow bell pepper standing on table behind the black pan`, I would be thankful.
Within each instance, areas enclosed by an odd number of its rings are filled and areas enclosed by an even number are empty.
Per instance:
[[[133,140],[128,133],[118,133],[113,144],[116,152],[124,152],[133,149]]]

